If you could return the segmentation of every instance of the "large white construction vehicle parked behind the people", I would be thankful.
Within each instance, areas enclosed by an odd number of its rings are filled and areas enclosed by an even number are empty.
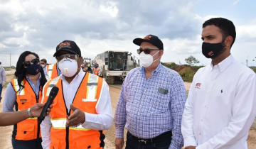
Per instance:
[[[100,76],[105,78],[108,84],[114,84],[114,80],[123,81],[129,70],[138,67],[139,59],[135,56],[132,57],[132,53],[128,51],[107,50],[92,60],[92,65],[95,64],[102,69]]]

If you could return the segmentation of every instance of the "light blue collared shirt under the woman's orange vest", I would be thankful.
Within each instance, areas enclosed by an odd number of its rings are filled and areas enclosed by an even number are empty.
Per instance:
[[[26,80],[29,84],[31,84],[31,87],[33,89],[33,92],[36,93],[36,96],[39,94],[40,90],[40,80],[41,80],[41,74],[38,78],[36,84],[33,83],[33,81],[26,75]],[[6,96],[4,96],[4,104],[3,104],[3,111],[4,112],[11,112],[14,111],[14,105],[16,102],[16,92],[14,90],[14,87],[12,87],[11,82],[6,87]],[[7,96],[8,95],[8,96]]]

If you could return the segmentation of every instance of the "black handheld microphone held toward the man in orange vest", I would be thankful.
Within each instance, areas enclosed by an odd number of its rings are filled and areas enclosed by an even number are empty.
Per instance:
[[[47,109],[50,107],[50,104],[53,103],[53,99],[55,98],[55,96],[58,94],[58,87],[53,87],[53,89],[50,90],[50,94],[48,96],[46,105],[43,106],[43,110],[40,114],[40,116],[38,117],[38,124],[40,125],[42,123],[42,121],[44,120],[44,118],[46,117],[47,114]]]

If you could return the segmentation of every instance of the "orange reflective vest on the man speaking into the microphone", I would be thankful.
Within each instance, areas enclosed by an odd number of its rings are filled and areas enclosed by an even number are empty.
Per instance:
[[[85,77],[82,79],[80,87],[78,87],[75,98],[73,99],[74,106],[78,107],[81,111],[97,114],[96,106],[101,95],[102,84],[102,78],[86,73]],[[50,90],[54,86],[58,87],[59,91],[55,96],[53,109],[50,111],[50,121],[52,123],[52,128],[50,129],[50,148],[103,148],[103,140],[105,138],[103,131],[83,128],[81,124],[68,128],[65,127],[67,117],[72,114],[72,111],[67,111],[65,106],[62,80],[60,77],[56,77],[46,84],[43,90],[43,103],[47,101]]]

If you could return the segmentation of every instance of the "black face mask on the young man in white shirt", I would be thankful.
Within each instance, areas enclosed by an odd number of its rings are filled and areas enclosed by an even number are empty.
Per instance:
[[[223,40],[224,42],[225,40]],[[220,53],[221,50],[225,46],[223,46],[223,42],[221,43],[205,43],[203,42],[202,44],[202,53],[205,55],[207,58],[215,58],[218,53]]]

